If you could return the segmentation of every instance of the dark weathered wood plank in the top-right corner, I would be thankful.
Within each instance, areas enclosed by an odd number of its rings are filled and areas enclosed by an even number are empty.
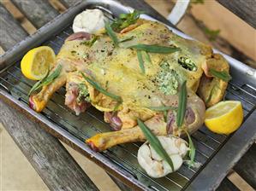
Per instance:
[[[256,1],[255,0],[217,0],[225,8],[232,11],[239,16],[242,20],[245,20],[249,25],[256,28]]]

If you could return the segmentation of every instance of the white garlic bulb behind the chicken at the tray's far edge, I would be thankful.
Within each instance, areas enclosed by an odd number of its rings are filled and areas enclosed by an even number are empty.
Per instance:
[[[86,9],[85,11],[77,14],[73,22],[74,32],[88,32],[95,33],[104,27],[104,22],[107,18],[99,9]]]

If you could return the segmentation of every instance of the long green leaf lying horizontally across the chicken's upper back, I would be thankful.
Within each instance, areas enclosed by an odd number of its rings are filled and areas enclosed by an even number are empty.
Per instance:
[[[132,45],[128,48],[144,50],[146,52],[160,53],[160,54],[170,54],[170,53],[174,53],[174,52],[180,50],[180,48],[176,48],[176,47],[148,45],[148,44],[143,44],[143,43],[138,43],[138,44]]]

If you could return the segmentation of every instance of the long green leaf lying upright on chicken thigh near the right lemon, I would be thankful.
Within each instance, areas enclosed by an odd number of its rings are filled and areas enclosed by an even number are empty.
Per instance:
[[[178,105],[178,112],[177,112],[177,119],[176,124],[178,127],[182,126],[183,120],[185,117],[186,106],[187,106],[187,81],[185,80],[182,83],[181,91],[179,93],[179,105]]]

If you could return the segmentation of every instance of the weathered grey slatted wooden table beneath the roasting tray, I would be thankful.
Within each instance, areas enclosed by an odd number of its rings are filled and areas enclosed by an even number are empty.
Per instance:
[[[70,7],[78,0],[61,0],[65,7]],[[121,3],[128,4],[134,9],[145,10],[158,20],[168,22],[161,14],[152,9],[142,0],[119,0]],[[219,0],[231,11],[234,9],[232,3]],[[48,1],[45,0],[12,0],[15,6],[21,10],[22,14],[39,29],[45,23],[57,16],[58,11],[54,9]],[[244,6],[246,3],[237,1],[237,6]],[[254,3],[255,5],[255,3]],[[249,6],[253,9],[253,5]],[[241,18],[246,20],[255,27],[255,18],[251,18],[252,14],[244,14],[245,10],[235,10],[235,13],[242,15]],[[240,14],[240,12],[242,14]],[[255,13],[255,12],[254,12]],[[8,10],[0,3],[0,45],[4,50],[10,49],[15,43],[19,43],[28,36],[27,32],[20,24],[9,14]],[[255,17],[255,14],[254,14]],[[3,123],[9,135],[15,140],[16,144],[21,148],[22,153],[27,157],[39,176],[44,180],[45,184],[51,190],[98,190],[92,183],[86,173],[81,170],[80,166],[71,157],[68,151],[56,137],[46,133],[39,124],[35,124],[28,120],[14,108],[7,106],[0,101],[0,122]],[[35,157],[36,156],[36,157]],[[234,170],[240,174],[253,188],[256,188],[256,146],[252,148],[241,158],[239,163],[235,165]],[[129,190],[128,187],[112,177],[116,184],[122,190]],[[70,181],[72,180],[72,181]],[[218,190],[239,190],[227,178],[223,180]]]

